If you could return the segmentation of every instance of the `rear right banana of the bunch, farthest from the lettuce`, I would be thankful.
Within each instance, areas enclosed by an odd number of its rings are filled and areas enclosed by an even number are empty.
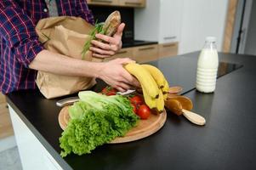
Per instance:
[[[153,65],[142,65],[147,71],[149,71],[151,73],[151,76],[155,79],[158,88],[163,88],[164,87],[164,82],[166,81],[162,71],[160,71],[159,69],[157,69],[155,66]]]

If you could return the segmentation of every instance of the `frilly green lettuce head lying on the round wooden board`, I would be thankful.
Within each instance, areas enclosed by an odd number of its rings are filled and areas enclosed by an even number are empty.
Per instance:
[[[105,96],[92,91],[78,94],[80,101],[69,109],[71,121],[60,137],[60,155],[91,153],[97,146],[125,135],[139,117],[122,95]]]

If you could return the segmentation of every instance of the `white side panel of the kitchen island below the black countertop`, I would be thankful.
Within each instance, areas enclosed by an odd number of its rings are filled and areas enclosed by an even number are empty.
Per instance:
[[[54,160],[54,157],[51,156],[10,105],[9,111],[14,126],[22,169],[62,170],[63,168]]]

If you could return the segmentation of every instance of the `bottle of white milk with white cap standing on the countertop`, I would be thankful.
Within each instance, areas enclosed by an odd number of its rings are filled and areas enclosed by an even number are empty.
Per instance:
[[[216,87],[219,57],[215,42],[215,37],[206,37],[197,61],[196,89],[202,93],[211,93]]]

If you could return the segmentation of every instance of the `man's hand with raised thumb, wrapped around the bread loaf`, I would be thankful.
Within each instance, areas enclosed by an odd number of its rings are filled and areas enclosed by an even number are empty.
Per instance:
[[[113,37],[96,34],[96,37],[103,40],[103,42],[96,40],[92,41],[93,46],[90,47],[90,50],[93,52],[93,56],[98,58],[108,58],[116,54],[117,51],[122,48],[122,31],[124,26],[124,23],[118,26],[117,33]]]

